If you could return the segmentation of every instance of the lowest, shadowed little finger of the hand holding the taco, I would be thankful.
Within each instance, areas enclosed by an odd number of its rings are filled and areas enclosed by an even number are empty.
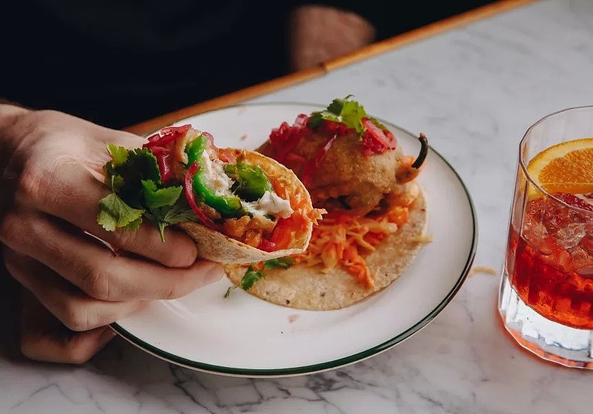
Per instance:
[[[109,326],[72,332],[23,289],[21,352],[30,359],[83,364],[115,337]]]

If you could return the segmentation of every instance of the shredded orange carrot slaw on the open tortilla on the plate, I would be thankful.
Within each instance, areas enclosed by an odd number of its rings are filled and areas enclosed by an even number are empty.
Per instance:
[[[293,257],[305,266],[321,265],[324,273],[343,266],[365,288],[372,289],[373,277],[365,255],[396,233],[408,221],[408,215],[409,208],[402,206],[394,206],[376,217],[328,214],[313,227],[308,249]]]

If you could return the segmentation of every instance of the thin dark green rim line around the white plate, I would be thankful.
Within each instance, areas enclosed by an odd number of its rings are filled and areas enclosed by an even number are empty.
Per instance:
[[[320,106],[319,104],[316,104],[316,103],[265,102],[265,103],[243,103],[243,104],[239,104],[239,105],[230,106],[227,108],[220,108],[217,110],[222,110],[222,109],[226,110],[226,109],[240,107],[240,106],[266,106],[266,105],[302,105],[302,106],[316,106],[319,108],[323,108],[323,106]],[[214,112],[214,111],[216,111],[216,110],[212,110],[212,111],[208,111],[208,112]],[[204,113],[208,113],[208,112],[204,112]],[[200,115],[203,115],[203,114],[200,114]],[[405,130],[399,126],[395,126],[394,124],[392,124],[388,121],[385,121],[383,119],[379,119],[379,121],[381,121],[381,123],[383,123],[385,125],[392,126],[393,128],[397,128],[399,130],[403,130],[403,131],[407,132],[408,134],[414,136],[414,134],[412,134],[411,132],[408,132],[408,130]],[[341,366],[354,364],[354,362],[359,362],[363,359],[367,359],[368,357],[372,357],[373,355],[382,353],[383,351],[387,351],[388,349],[392,348],[396,344],[403,342],[403,340],[412,336],[414,333],[420,331],[421,328],[427,326],[432,321],[432,319],[434,319],[436,317],[436,315],[439,315],[439,313],[441,313],[441,311],[443,311],[445,306],[447,306],[449,304],[449,302],[451,302],[453,297],[455,297],[456,293],[459,291],[459,289],[463,285],[463,282],[465,282],[465,279],[468,277],[468,273],[470,272],[470,268],[472,267],[472,264],[474,262],[474,257],[476,255],[476,247],[478,244],[478,226],[477,226],[477,218],[476,218],[476,209],[474,207],[474,202],[472,201],[472,197],[470,196],[468,188],[465,186],[465,183],[463,182],[463,180],[461,179],[459,174],[456,172],[456,170],[451,166],[451,164],[449,164],[449,162],[441,154],[439,154],[439,152],[432,149],[432,147],[430,147],[430,152],[432,154],[436,155],[437,157],[439,157],[451,169],[451,171],[454,173],[454,175],[459,180],[459,183],[461,184],[463,190],[465,191],[465,195],[468,197],[468,202],[470,204],[470,210],[472,212],[472,248],[470,250],[470,254],[468,255],[468,259],[465,262],[465,266],[463,267],[461,275],[459,275],[459,279],[457,279],[457,282],[455,283],[453,288],[443,298],[443,300],[436,306],[436,308],[434,308],[430,313],[428,313],[428,315],[426,315],[421,320],[419,320],[419,322],[416,322],[416,324],[414,324],[414,326],[412,326],[411,328],[408,328],[406,331],[403,331],[399,335],[396,335],[392,339],[389,339],[388,341],[385,341],[379,345],[373,346],[372,348],[369,348],[365,351],[361,351],[359,353],[355,353],[355,354],[349,355],[347,357],[334,359],[332,361],[321,362],[319,364],[313,364],[313,365],[307,365],[307,366],[296,366],[296,367],[291,367],[291,368],[252,369],[252,368],[233,368],[233,367],[228,367],[228,366],[212,365],[212,364],[207,364],[205,362],[193,361],[192,359],[186,359],[183,357],[179,357],[178,355],[168,353],[167,351],[163,351],[162,349],[157,348],[156,346],[153,346],[151,344],[148,344],[147,342],[144,342],[139,337],[136,337],[135,335],[132,335],[132,333],[126,331],[123,327],[121,327],[119,324],[117,324],[117,322],[114,322],[113,324],[111,324],[111,327],[119,335],[121,335],[122,337],[127,339],[129,342],[132,342],[132,344],[134,344],[135,346],[138,346],[139,348],[143,349],[144,351],[146,351],[152,355],[155,355],[161,359],[165,359],[168,362],[172,362],[173,364],[185,366],[188,368],[194,368],[199,371],[205,371],[208,373],[237,375],[237,376],[241,376],[241,377],[274,377],[274,376],[280,377],[280,376],[301,375],[301,374],[316,373],[316,372],[320,372],[320,371],[328,371],[333,368],[339,368]]]

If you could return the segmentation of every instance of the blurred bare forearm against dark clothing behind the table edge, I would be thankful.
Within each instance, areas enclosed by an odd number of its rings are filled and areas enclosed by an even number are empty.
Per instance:
[[[302,70],[374,41],[376,30],[354,12],[328,6],[302,6],[291,16],[290,66]]]

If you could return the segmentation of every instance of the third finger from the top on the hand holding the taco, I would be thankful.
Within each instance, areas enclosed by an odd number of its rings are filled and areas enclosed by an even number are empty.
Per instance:
[[[88,331],[116,322],[143,308],[147,301],[105,302],[84,294],[50,268],[6,248],[8,271],[72,331]]]

